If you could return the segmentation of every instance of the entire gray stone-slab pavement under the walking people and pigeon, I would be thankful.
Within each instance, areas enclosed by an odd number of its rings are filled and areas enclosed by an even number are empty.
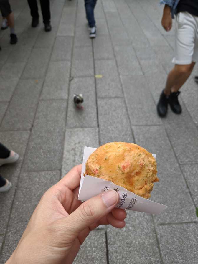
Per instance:
[[[0,141],[20,155],[1,167],[13,187],[0,194],[0,263],[16,247],[40,197],[84,146],[137,143],[156,153],[160,215],[128,212],[126,227],[91,232],[77,263],[197,263],[198,87],[182,88],[183,112],[156,114],[171,69],[174,29],[161,27],[158,0],[98,0],[90,40],[83,0],[51,1],[52,32],[31,28],[26,0],[11,0],[19,42],[0,32]],[[173,24],[174,27],[174,24]],[[95,78],[95,75],[103,75]],[[73,93],[84,95],[77,110]]]

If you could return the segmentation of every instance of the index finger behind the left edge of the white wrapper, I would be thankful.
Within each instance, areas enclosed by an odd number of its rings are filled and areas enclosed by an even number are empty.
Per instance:
[[[75,189],[80,185],[80,176],[82,171],[82,164],[73,167],[59,182],[56,187],[60,190],[62,188],[69,188],[70,190]]]

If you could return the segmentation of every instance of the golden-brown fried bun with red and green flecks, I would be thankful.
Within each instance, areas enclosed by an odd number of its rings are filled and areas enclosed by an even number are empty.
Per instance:
[[[96,149],[86,162],[85,174],[110,180],[146,199],[151,196],[153,183],[159,181],[151,153],[126,142],[111,142]]]

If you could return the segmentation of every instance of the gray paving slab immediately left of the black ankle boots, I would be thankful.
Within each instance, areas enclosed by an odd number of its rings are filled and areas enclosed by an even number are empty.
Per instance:
[[[156,105],[143,76],[121,76],[132,125],[161,125]]]

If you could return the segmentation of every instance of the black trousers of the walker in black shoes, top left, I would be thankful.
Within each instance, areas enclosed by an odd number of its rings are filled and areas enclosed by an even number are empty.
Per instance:
[[[32,17],[39,17],[37,0],[27,0],[30,7],[30,14]],[[50,22],[50,6],[49,0],[40,0],[41,11],[43,15],[43,23]]]

